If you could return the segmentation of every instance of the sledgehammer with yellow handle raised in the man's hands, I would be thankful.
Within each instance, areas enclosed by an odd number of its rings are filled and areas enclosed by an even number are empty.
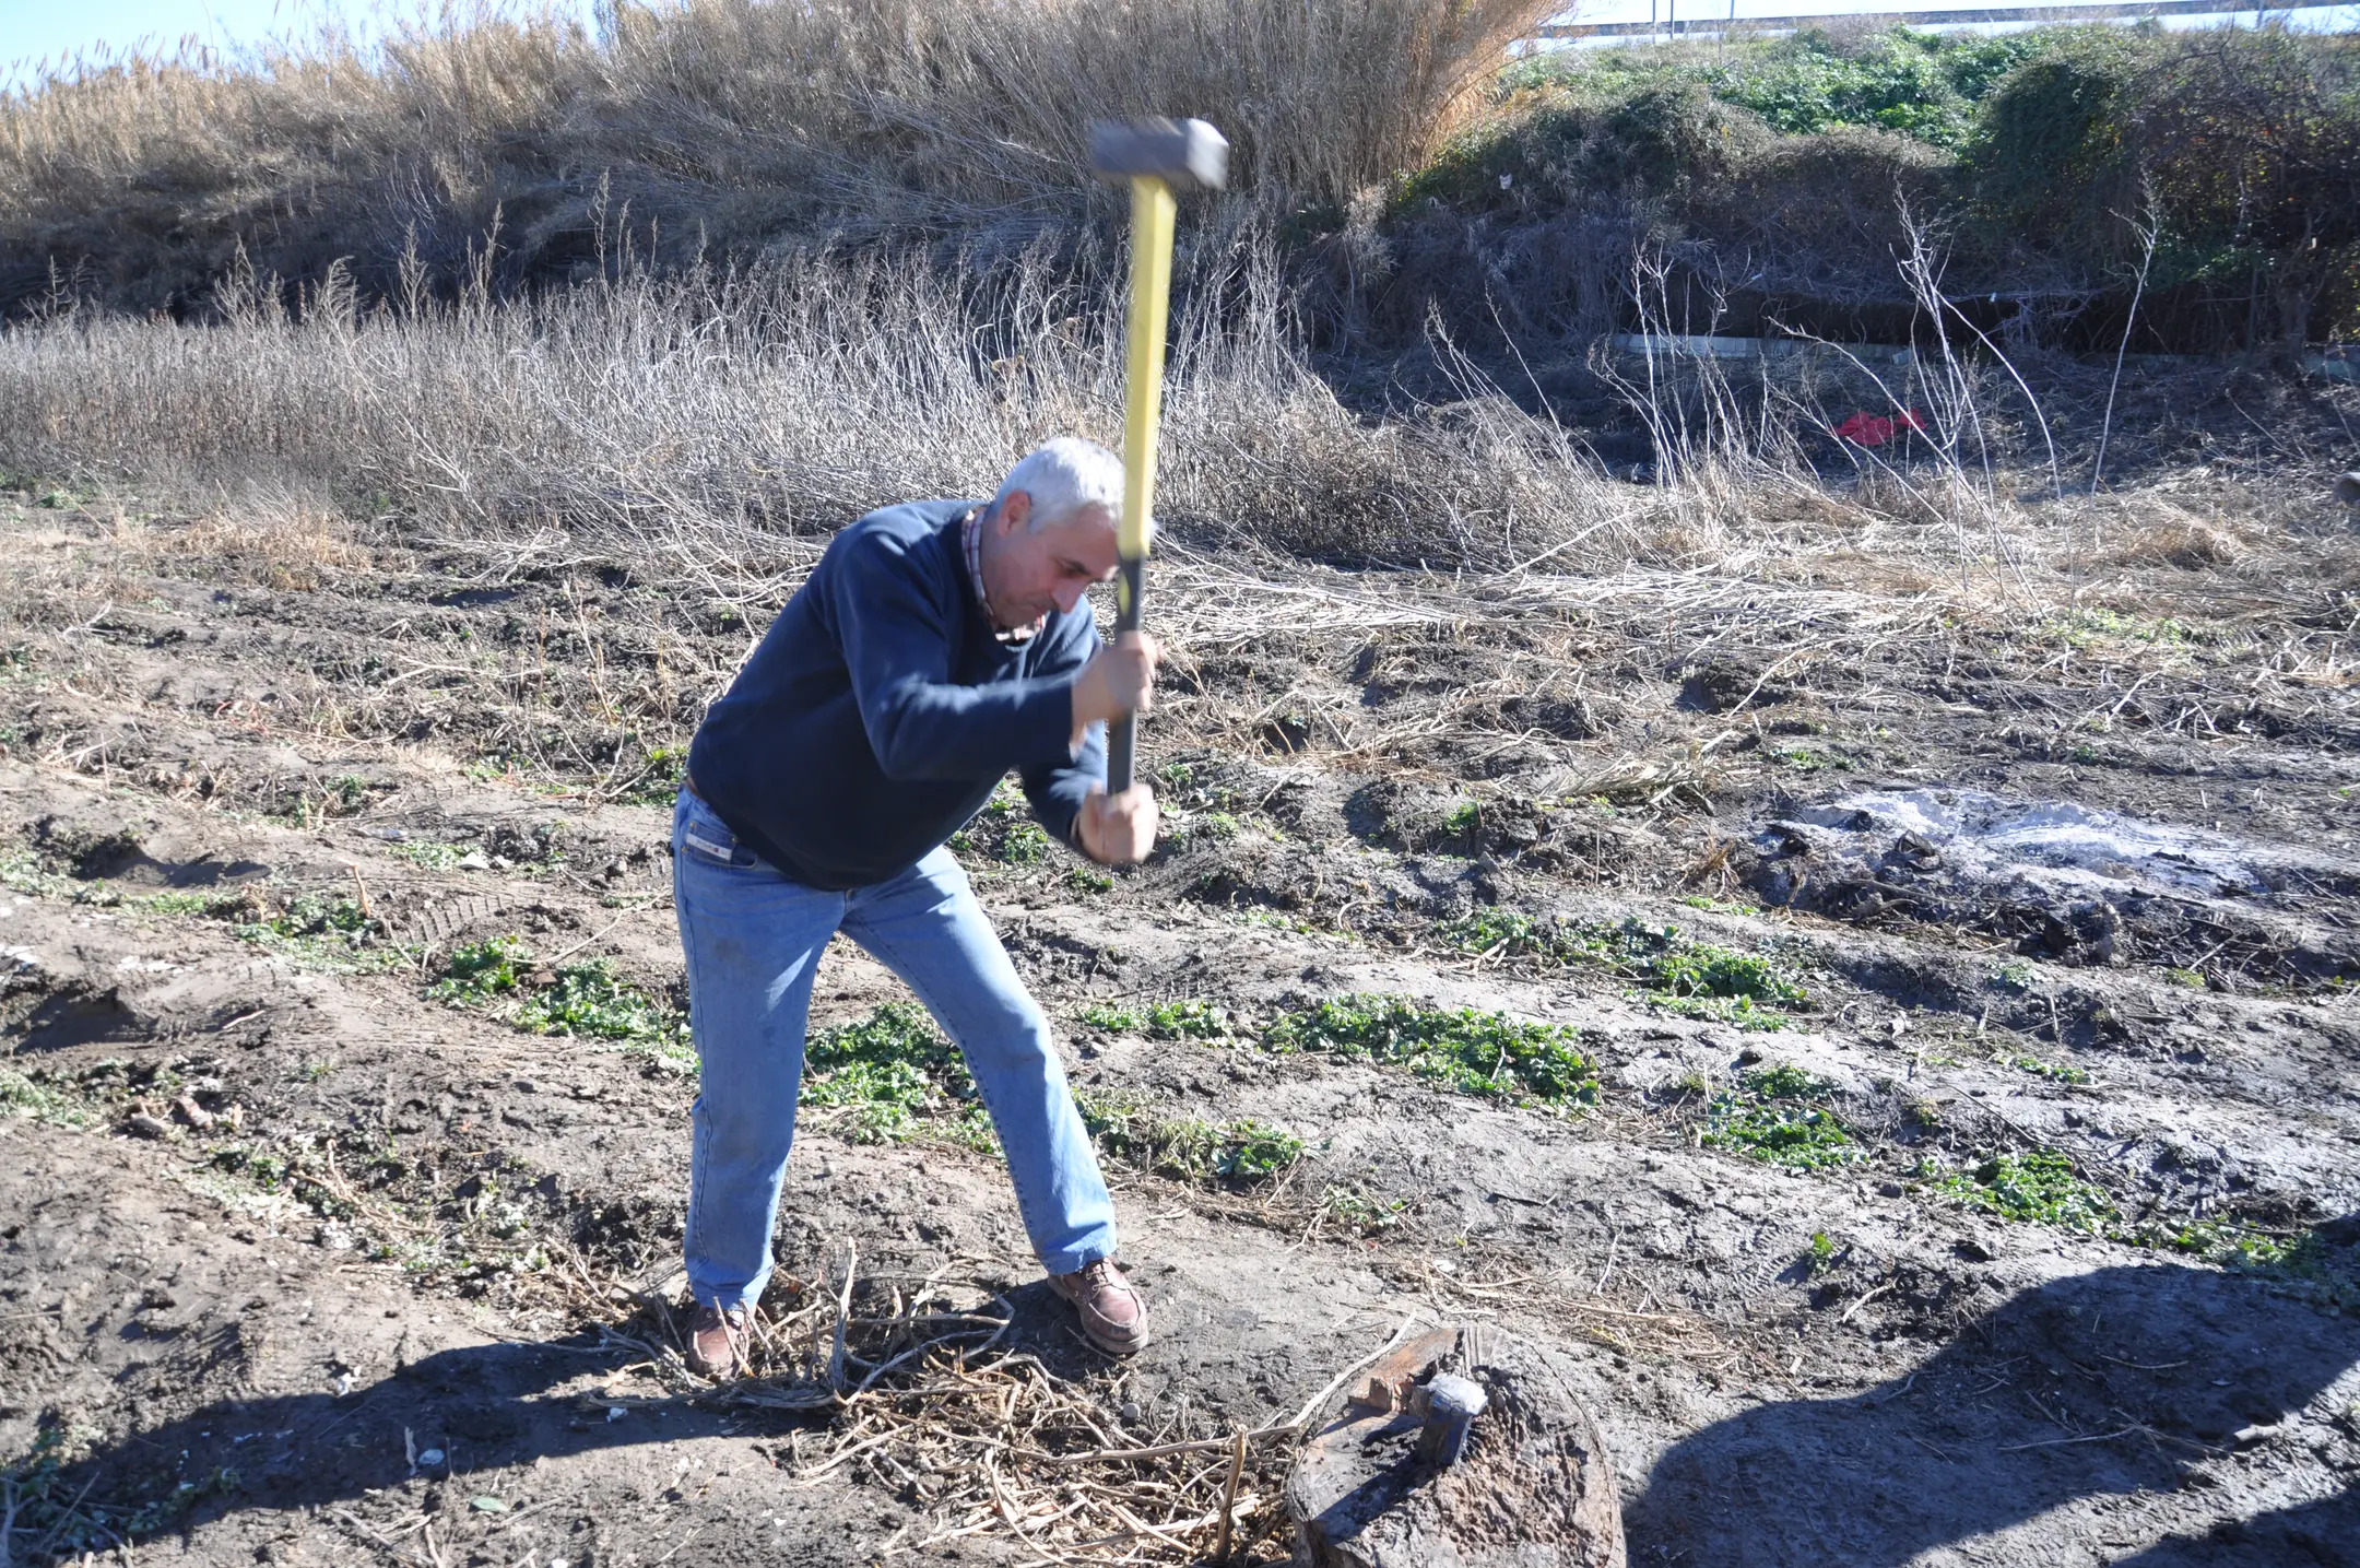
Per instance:
[[[1123,366],[1123,517],[1114,529],[1121,576],[1114,583],[1116,635],[1140,628],[1140,588],[1154,541],[1156,411],[1163,404],[1163,331],[1173,286],[1173,191],[1220,189],[1230,144],[1204,120],[1090,120],[1090,168],[1130,182],[1130,307]],[[1123,716],[1107,727],[1107,791],[1130,789],[1133,732]]]

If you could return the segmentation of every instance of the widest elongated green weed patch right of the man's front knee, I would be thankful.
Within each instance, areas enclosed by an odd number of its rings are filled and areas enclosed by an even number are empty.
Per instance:
[[[1409,997],[1340,997],[1286,1013],[1263,1034],[1265,1051],[1317,1051],[1340,1060],[1407,1067],[1451,1093],[1569,1110],[1598,1103],[1598,1065],[1562,1025],[1506,1013],[1425,1008]]]

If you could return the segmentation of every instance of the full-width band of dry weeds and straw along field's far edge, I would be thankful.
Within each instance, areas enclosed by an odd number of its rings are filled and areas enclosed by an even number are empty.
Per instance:
[[[1234,579],[1204,635],[1239,616],[1437,614],[1305,590],[1305,560],[1496,571],[1501,602],[1626,567],[1883,595],[2046,600],[2091,571],[2235,588],[2299,543],[2289,520],[2315,534],[2308,512],[2334,512],[2325,496],[2303,510],[2299,472],[2060,489],[2013,373],[1968,361],[1886,383],[1749,371],[1758,385],[1711,361],[1626,366],[1664,458],[1661,482],[1626,484],[1440,338],[1461,397],[1348,409],[1253,239],[1199,257],[1199,283],[1171,359],[1161,512]],[[1121,427],[1121,305],[1043,257],[635,269],[507,305],[361,309],[342,283],[300,312],[253,283],[224,302],[208,328],[66,314],[0,335],[0,463],[194,503],[208,529],[253,536],[208,548],[300,557],[278,562],[295,576],[392,527],[486,569],[599,557],[746,602],[868,508],[989,494],[1031,444]],[[1805,442],[1860,399],[1930,406],[1926,449],[1815,470]]]

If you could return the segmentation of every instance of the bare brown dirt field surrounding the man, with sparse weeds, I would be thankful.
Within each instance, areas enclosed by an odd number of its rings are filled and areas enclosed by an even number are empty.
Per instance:
[[[1050,1426],[1003,1490],[925,1391],[677,1363],[673,749],[807,545],[732,586],[33,496],[0,541],[0,1561],[1211,1549],[1060,1535]],[[1005,1407],[1104,1448],[1496,1322],[1645,1566],[2360,1563],[2360,555],[2287,548],[2082,600],[1178,550],[1163,848],[963,855],[1076,1089],[1267,1159],[1107,1145],[1159,1329],[1109,1365],[956,1108],[814,1108],[772,1315],[1005,1318]],[[430,994],[491,937],[644,1027]],[[819,1023],[899,994],[833,952]],[[1595,1093],[1272,1044],[1378,994],[1558,1025]]]

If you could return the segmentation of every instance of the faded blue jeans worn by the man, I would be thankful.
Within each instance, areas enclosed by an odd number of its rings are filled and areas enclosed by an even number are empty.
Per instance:
[[[1043,1268],[1074,1273],[1114,1256],[1114,1202],[1048,1020],[949,850],[892,881],[824,893],[755,857],[713,808],[680,791],[673,904],[701,1070],[687,1233],[699,1301],[750,1306],[769,1282],[812,980],[838,930],[897,973],[968,1060]]]

